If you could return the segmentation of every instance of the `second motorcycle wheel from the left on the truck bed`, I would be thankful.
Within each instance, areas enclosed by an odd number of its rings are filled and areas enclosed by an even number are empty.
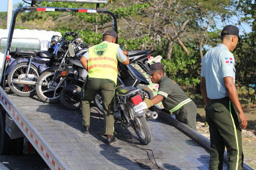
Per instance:
[[[36,94],[43,102],[57,103],[59,101],[60,91],[66,84],[65,82],[63,82],[63,84],[58,89],[55,89],[58,82],[54,82],[54,85],[50,87],[52,89],[48,88],[48,86],[43,85],[50,82],[54,75],[55,72],[44,72],[38,78],[38,81],[36,83]]]

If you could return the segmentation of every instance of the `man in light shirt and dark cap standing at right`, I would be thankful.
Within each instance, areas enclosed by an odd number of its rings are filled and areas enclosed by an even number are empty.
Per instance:
[[[210,170],[222,170],[225,147],[229,158],[228,169],[242,170],[241,128],[247,127],[247,118],[235,87],[235,58],[231,53],[238,40],[239,29],[232,25],[225,26],[221,32],[221,44],[207,51],[202,59],[201,92],[210,131]]]

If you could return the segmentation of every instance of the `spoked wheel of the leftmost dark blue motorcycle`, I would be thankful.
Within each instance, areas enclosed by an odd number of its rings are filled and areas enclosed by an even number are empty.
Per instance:
[[[25,75],[27,67],[28,67],[28,63],[19,63],[11,70],[10,74],[7,77],[8,85],[10,89],[15,94],[23,97],[29,97],[29,96],[35,95],[36,85],[15,84],[12,82],[12,80],[22,77],[22,75]],[[28,73],[29,75],[34,76],[36,78],[35,81],[37,81],[39,77],[39,73],[36,66],[31,65]]]

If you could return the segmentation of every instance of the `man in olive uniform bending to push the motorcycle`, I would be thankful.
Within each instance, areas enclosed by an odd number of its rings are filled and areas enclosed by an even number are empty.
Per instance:
[[[197,106],[176,82],[164,76],[163,65],[161,63],[151,65],[147,74],[150,75],[153,83],[159,84],[157,95],[151,100],[145,99],[147,106],[151,107],[162,102],[164,108],[173,113],[178,121],[197,130]]]

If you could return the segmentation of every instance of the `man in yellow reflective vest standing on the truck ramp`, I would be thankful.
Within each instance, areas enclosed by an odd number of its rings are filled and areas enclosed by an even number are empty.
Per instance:
[[[104,135],[107,142],[113,143],[114,132],[114,93],[117,81],[117,61],[129,64],[129,58],[123,54],[119,44],[115,44],[117,34],[114,30],[103,34],[103,42],[92,46],[81,57],[80,62],[88,70],[88,80],[82,98],[82,132],[89,134],[90,102],[100,93],[104,108]]]

